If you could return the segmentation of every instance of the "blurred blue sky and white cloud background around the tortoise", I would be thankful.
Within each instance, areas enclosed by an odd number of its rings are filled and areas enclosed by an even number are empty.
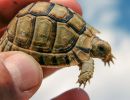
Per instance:
[[[85,91],[91,100],[130,100],[130,1],[78,0],[83,17],[100,30],[98,36],[109,41],[116,57],[115,64],[104,67],[95,60],[94,77]],[[43,80],[31,100],[50,100],[62,92],[78,87],[78,67],[62,69]]]

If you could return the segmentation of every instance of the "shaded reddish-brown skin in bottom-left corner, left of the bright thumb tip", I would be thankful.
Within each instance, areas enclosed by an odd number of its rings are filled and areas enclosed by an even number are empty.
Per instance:
[[[16,92],[10,73],[0,59],[0,98],[2,100],[18,100],[20,96]]]

